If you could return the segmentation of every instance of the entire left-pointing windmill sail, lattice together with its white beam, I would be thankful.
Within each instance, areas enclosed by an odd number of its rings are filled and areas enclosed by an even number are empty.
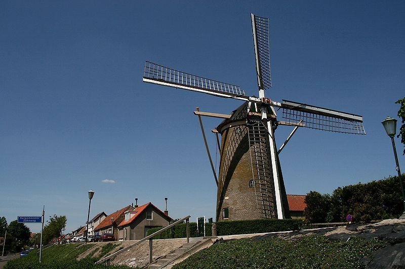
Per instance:
[[[248,100],[239,86],[207,79],[146,61],[143,81],[219,97]]]

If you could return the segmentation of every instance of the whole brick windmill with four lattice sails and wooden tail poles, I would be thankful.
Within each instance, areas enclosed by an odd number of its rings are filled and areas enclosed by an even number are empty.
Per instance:
[[[217,221],[289,218],[287,194],[278,154],[299,127],[322,131],[366,134],[362,117],[294,101],[273,101],[265,97],[271,85],[269,19],[251,14],[259,97],[248,96],[239,86],[191,75],[146,62],[143,81],[213,96],[244,101],[230,115],[194,112],[224,119],[213,130],[221,134],[218,177],[208,155],[217,183]],[[276,110],[283,121],[277,121]],[[274,130],[279,125],[294,126],[286,142],[277,150]]]

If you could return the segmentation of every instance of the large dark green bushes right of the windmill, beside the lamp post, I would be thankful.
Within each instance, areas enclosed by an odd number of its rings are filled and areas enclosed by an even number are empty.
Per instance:
[[[332,196],[311,191],[305,202],[304,216],[311,223],[344,222],[347,214],[370,222],[398,218],[403,211],[398,177],[339,187]]]

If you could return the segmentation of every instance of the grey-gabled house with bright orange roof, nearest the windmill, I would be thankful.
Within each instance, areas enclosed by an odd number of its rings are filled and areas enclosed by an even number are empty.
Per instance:
[[[139,240],[147,236],[150,228],[166,227],[173,220],[151,202],[128,209],[125,219],[118,225],[118,240]]]

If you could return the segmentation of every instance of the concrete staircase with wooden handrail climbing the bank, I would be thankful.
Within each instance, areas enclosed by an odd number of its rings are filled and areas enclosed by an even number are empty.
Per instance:
[[[171,251],[169,254],[157,258],[148,265],[149,269],[169,269],[176,263],[185,260],[190,255],[212,246],[217,237],[190,238],[190,242]]]

